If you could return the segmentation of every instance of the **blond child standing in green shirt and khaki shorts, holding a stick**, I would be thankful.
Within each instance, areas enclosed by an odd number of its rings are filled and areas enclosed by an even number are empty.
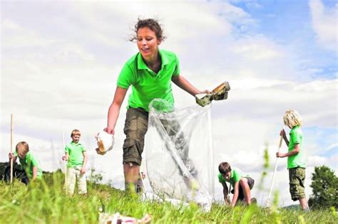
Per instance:
[[[300,206],[303,210],[309,210],[307,206],[307,199],[305,197],[305,168],[303,133],[300,129],[302,126],[302,118],[295,110],[287,110],[284,115],[284,124],[291,129],[290,142],[287,139],[285,130],[280,131],[280,136],[283,137],[285,143],[289,147],[287,153],[277,152],[276,156],[283,158],[287,157],[287,169],[289,169],[290,193],[293,201],[299,200]]]

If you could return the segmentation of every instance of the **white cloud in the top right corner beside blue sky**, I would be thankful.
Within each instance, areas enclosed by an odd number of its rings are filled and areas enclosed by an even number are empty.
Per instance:
[[[337,51],[338,5],[330,9],[321,0],[309,0],[309,7],[318,42],[329,50]]]

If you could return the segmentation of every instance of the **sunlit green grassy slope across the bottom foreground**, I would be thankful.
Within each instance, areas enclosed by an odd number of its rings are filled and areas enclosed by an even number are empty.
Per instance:
[[[97,178],[97,177],[96,177]],[[0,223],[98,223],[99,210],[142,218],[149,213],[151,223],[338,223],[334,210],[301,210],[229,208],[212,205],[208,213],[198,206],[175,207],[170,203],[142,202],[137,195],[98,184],[88,183],[87,196],[66,196],[61,171],[44,174],[43,181],[26,187],[0,181]],[[99,178],[99,177],[98,177]]]

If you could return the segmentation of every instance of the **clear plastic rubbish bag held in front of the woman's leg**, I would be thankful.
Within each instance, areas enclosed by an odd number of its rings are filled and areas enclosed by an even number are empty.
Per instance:
[[[210,105],[176,110],[150,102],[145,165],[153,192],[210,210],[214,191]]]

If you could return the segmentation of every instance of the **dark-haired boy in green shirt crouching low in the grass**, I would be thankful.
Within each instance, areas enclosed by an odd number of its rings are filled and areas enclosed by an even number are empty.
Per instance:
[[[244,201],[247,205],[256,201],[255,198],[251,198],[250,190],[254,186],[255,181],[250,176],[242,174],[238,169],[231,169],[230,164],[227,162],[220,163],[218,171],[220,171],[220,174],[218,174],[218,181],[222,183],[223,196],[226,204],[230,203],[230,201],[227,199],[229,189],[225,182],[230,183],[233,188],[231,191],[231,193],[234,194],[231,202],[232,207],[236,205],[237,201]]]

